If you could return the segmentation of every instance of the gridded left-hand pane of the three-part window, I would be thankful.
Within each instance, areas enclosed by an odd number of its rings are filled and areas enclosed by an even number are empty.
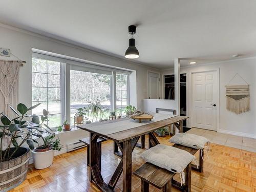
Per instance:
[[[32,58],[32,104],[41,103],[32,113],[41,115],[49,111],[47,124],[55,127],[61,124],[61,63]]]

